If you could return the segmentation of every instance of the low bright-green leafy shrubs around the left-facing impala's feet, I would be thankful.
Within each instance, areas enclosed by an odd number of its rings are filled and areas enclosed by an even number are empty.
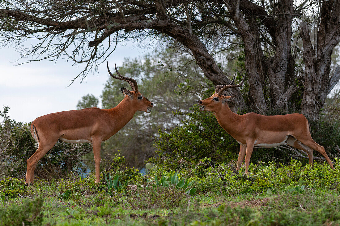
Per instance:
[[[337,165],[338,162],[336,160],[334,163]],[[199,164],[204,165],[203,162]],[[153,169],[152,172],[157,173],[159,184],[164,184],[164,179],[162,179],[164,169]],[[306,188],[319,187],[340,192],[340,169],[332,170],[327,162],[320,164],[314,161],[313,167],[309,164],[303,166],[295,159],[291,159],[289,164],[269,162],[255,165],[250,163],[249,172],[249,175],[244,175],[244,168],[241,168],[238,174],[235,174],[229,164],[220,163],[215,164],[214,168],[208,166],[202,169],[197,169],[196,166],[182,168],[177,175],[192,181],[192,187],[197,189],[197,193],[213,192],[226,196],[238,193],[264,195],[266,192],[293,192],[297,189],[302,191]],[[147,177],[148,181],[153,180],[151,175]],[[165,180],[169,178],[164,177]]]

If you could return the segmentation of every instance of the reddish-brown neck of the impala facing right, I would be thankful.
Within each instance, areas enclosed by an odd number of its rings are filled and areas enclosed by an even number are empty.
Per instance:
[[[116,107],[110,109],[113,114],[114,129],[116,131],[123,128],[137,112],[137,109],[132,106],[128,98],[126,96]]]

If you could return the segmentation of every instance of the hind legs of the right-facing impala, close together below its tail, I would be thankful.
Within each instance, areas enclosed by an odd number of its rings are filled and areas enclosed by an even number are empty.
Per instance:
[[[34,152],[34,154],[27,159],[27,171],[26,171],[26,181],[25,185],[33,185],[33,179],[34,179],[34,170],[37,167],[38,161],[46,155],[46,153],[51,150],[51,148],[54,146],[54,144],[57,141],[55,141],[53,144],[43,144],[42,142],[39,143],[38,149]]]

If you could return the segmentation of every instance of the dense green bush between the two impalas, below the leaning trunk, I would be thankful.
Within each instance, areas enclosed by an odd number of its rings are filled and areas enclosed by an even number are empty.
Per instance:
[[[210,157],[215,162],[230,162],[236,158],[239,143],[223,130],[215,116],[202,113],[198,107],[190,109],[185,114],[187,119],[182,122],[182,126],[169,132],[158,131],[158,157],[151,158],[150,161],[175,170],[197,164],[204,157]]]

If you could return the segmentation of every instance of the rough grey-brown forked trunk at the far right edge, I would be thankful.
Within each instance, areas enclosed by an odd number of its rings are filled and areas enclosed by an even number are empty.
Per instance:
[[[340,42],[340,1],[323,1],[318,31],[317,54],[314,56],[308,24],[301,23],[300,36],[303,41],[303,60],[305,69],[305,91],[301,103],[301,112],[307,118],[318,120],[330,87],[339,78],[338,71],[329,78],[330,57],[333,48]]]

